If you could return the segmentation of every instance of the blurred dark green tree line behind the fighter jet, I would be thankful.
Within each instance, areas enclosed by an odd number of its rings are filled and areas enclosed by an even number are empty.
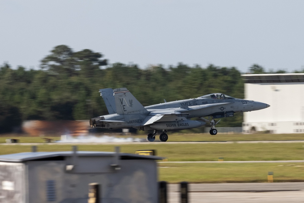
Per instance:
[[[136,64],[108,65],[103,55],[89,49],[74,52],[66,45],[54,47],[41,60],[39,70],[0,66],[0,132],[18,129],[25,120],[88,120],[108,114],[102,88],[126,87],[143,106],[166,101],[225,93],[244,98],[241,73],[235,67],[183,63],[164,68]],[[264,71],[253,65],[250,72]],[[222,126],[241,126],[242,115],[223,119]]]

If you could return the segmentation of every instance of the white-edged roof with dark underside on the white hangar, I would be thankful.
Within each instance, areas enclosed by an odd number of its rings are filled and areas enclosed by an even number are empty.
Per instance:
[[[245,83],[282,83],[282,82],[304,82],[304,73],[284,74],[244,74]]]

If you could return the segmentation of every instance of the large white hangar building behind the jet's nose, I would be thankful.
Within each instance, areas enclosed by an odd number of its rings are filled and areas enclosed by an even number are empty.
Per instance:
[[[245,99],[270,105],[244,112],[243,133],[304,133],[304,73],[242,76]]]

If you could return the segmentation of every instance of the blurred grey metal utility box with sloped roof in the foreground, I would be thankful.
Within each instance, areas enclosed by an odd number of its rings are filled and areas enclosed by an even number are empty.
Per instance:
[[[156,156],[119,152],[25,152],[0,156],[0,202],[157,202]]]

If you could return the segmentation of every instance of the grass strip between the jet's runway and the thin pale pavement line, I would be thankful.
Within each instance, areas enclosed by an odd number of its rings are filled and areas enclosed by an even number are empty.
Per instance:
[[[33,144],[35,145],[35,144]],[[113,152],[113,145],[78,145],[79,151]],[[73,145],[38,145],[38,151],[71,151]],[[149,144],[121,145],[120,151],[135,153],[136,150],[156,149],[157,156],[168,161],[270,161],[304,159],[304,143],[232,143],[232,144]],[[30,152],[31,145],[1,145],[0,155]]]

